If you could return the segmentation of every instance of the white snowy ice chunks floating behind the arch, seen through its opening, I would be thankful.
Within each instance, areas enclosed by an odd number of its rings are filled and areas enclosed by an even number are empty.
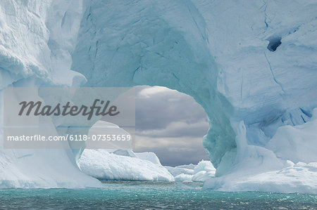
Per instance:
[[[162,166],[154,152],[132,150],[84,150],[79,164],[87,175],[105,181],[204,182],[216,173],[210,161],[202,160],[197,165]]]

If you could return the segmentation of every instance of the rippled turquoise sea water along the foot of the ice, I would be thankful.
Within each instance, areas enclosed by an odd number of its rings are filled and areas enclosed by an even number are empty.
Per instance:
[[[77,190],[0,190],[0,209],[317,209],[317,195],[216,192],[201,185],[126,181]]]

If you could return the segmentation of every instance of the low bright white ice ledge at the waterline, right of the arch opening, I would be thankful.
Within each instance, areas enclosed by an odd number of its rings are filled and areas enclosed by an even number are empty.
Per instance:
[[[242,173],[243,174],[243,173]],[[228,176],[211,178],[204,188],[220,191],[263,191],[263,192],[299,192],[317,193],[317,162],[305,164],[289,163],[289,166],[251,176],[232,173]]]

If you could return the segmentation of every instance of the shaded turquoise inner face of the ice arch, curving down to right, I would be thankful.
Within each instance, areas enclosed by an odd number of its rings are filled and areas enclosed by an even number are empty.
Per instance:
[[[85,11],[72,69],[85,75],[87,86],[166,86],[192,96],[209,117],[204,147],[211,162],[234,156],[232,107],[217,89],[218,69],[197,8],[190,1],[112,4],[95,2]]]

